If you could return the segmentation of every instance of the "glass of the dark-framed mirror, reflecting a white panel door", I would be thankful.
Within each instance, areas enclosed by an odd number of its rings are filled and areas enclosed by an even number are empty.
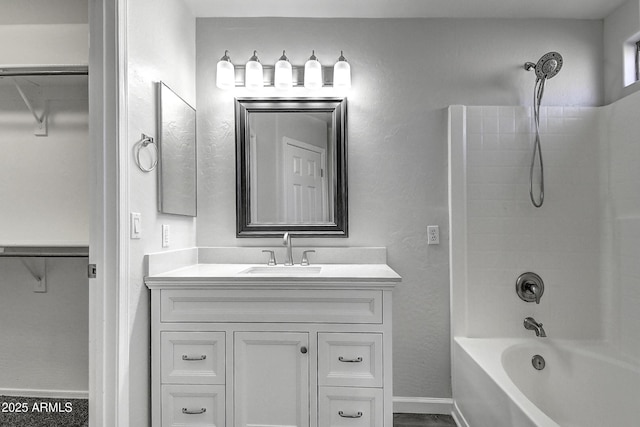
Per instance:
[[[328,224],[331,114],[253,113],[249,183],[252,224]]]

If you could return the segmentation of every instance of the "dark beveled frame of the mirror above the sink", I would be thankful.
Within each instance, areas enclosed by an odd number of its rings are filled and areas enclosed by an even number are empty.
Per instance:
[[[348,237],[347,99],[253,98],[235,99],[236,122],[236,236],[276,237],[285,232],[298,237]],[[335,141],[333,224],[251,224],[249,177],[249,114],[252,112],[329,112]]]

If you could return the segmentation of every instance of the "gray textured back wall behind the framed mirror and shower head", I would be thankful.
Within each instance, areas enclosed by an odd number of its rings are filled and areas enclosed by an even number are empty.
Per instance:
[[[350,237],[294,244],[386,246],[389,265],[403,277],[394,293],[394,395],[451,396],[446,107],[529,105],[535,78],[523,64],[550,50],[565,64],[548,82],[544,104],[601,105],[602,27],[577,20],[198,19],[198,245],[280,243],[235,237],[238,93],[215,87],[224,50],[242,64],[257,49],[273,64],[286,49],[295,65],[311,49],[325,64],[344,50],[353,76]],[[439,246],[427,247],[428,224],[440,225]]]

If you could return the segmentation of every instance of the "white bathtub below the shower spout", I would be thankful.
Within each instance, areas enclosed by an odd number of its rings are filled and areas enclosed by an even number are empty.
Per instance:
[[[611,353],[549,338],[455,338],[454,415],[468,427],[640,426],[640,367]]]

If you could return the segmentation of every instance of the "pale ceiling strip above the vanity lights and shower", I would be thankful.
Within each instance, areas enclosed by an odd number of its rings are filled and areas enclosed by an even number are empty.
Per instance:
[[[626,0],[184,0],[196,17],[603,19]]]

